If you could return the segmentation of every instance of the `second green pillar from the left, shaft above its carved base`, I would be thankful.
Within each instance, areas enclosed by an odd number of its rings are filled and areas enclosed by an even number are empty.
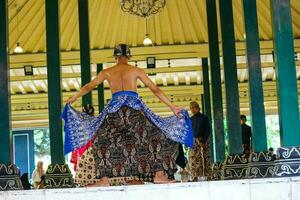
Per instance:
[[[46,45],[51,162],[64,163],[58,0],[46,0]]]

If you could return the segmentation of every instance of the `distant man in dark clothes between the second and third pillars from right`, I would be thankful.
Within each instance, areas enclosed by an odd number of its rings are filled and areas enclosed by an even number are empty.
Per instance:
[[[247,118],[241,115],[243,154],[248,158],[251,152],[251,127],[246,124]]]

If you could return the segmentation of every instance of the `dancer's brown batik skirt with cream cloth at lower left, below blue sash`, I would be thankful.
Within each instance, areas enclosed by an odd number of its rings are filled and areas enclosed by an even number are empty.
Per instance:
[[[102,177],[111,182],[153,181],[157,171],[172,178],[177,155],[178,143],[167,139],[142,111],[124,106],[106,116],[92,147],[77,163],[75,182],[85,186]]]

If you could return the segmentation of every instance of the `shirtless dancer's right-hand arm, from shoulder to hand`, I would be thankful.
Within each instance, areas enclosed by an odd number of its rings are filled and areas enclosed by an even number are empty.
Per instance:
[[[148,75],[142,69],[138,69],[138,78],[157,96],[162,102],[164,102],[175,115],[178,115],[181,108],[174,105],[170,99],[157,87],[152,80],[148,77]]]

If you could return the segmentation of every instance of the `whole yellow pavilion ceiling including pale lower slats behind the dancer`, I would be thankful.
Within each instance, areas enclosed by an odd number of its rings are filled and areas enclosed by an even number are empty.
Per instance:
[[[45,0],[8,0],[9,52],[14,128],[47,126],[48,98],[46,80]],[[147,56],[155,56],[165,64],[148,70],[151,79],[180,106],[188,107],[191,100],[200,101],[202,72],[199,62],[168,66],[166,59],[208,57],[206,0],[166,0],[166,7],[149,20],[150,36],[154,46],[144,47],[145,19],[121,11],[119,0],[89,0],[91,63],[114,61],[112,48],[127,43],[132,49],[132,60],[144,67]],[[237,55],[245,55],[245,37],[242,1],[232,0]],[[261,53],[269,55],[262,60],[264,95],[267,113],[277,113],[275,70],[273,60],[272,27],[269,0],[257,0]],[[17,6],[16,6],[17,5]],[[300,1],[291,0],[295,51],[300,52]],[[18,23],[17,23],[18,22]],[[219,41],[221,42],[220,24]],[[60,47],[62,89],[64,100],[80,88],[79,26],[77,0],[60,1]],[[19,32],[19,34],[18,34]],[[14,54],[16,42],[25,53]],[[222,53],[222,48],[220,45]],[[298,53],[300,58],[300,54]],[[183,61],[183,62],[186,62]],[[34,66],[34,76],[24,76],[23,66]],[[300,62],[297,61],[298,90],[300,89]],[[238,64],[241,111],[249,112],[247,70],[245,59]],[[95,75],[95,65],[92,65]],[[222,75],[222,79],[223,79]],[[146,103],[160,115],[170,111],[139,83],[139,91]],[[107,83],[105,98],[109,99]],[[299,92],[300,94],[300,92]],[[97,92],[93,92],[97,108]],[[225,98],[223,97],[224,102]],[[80,101],[74,104],[80,109]],[[225,108],[225,107],[224,107]]]

